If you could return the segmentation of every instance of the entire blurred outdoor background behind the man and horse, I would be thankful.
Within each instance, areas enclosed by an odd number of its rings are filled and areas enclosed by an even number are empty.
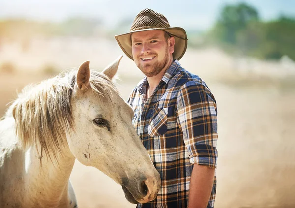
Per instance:
[[[294,0],[0,0],[0,117],[25,85],[123,55],[114,35],[144,8],[187,31],[180,63],[217,100],[215,207],[295,208]],[[127,100],[143,75],[126,56],[118,75]],[[79,208],[135,207],[78,161],[70,179]]]

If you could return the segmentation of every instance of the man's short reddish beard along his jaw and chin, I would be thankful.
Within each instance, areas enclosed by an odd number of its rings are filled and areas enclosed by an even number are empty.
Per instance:
[[[140,63],[136,64],[137,67],[144,73],[144,75],[146,75],[147,77],[153,77],[158,75],[163,68],[166,66],[167,62],[168,62],[168,46],[166,46],[166,53],[165,53],[165,57],[163,59],[162,62],[157,61],[156,63],[153,64],[145,64],[145,65],[141,65]],[[153,67],[152,71],[146,71],[145,68],[149,68],[149,67]]]

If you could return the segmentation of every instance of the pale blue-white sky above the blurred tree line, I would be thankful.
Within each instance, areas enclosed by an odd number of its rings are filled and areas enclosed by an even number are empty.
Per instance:
[[[0,20],[61,22],[74,16],[99,18],[112,27],[123,19],[132,21],[142,9],[150,8],[165,15],[172,27],[207,30],[224,4],[238,2],[254,6],[265,21],[281,14],[295,17],[295,0],[0,0]]]

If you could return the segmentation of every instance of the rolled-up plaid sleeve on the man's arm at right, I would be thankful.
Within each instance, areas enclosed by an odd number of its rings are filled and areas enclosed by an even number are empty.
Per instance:
[[[183,133],[190,162],[217,166],[217,107],[207,87],[185,83],[177,96],[177,121]]]

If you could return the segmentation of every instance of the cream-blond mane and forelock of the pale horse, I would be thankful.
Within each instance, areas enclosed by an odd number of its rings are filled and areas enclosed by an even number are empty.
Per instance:
[[[13,115],[16,134],[23,146],[36,143],[41,146],[40,158],[61,152],[66,143],[66,132],[75,127],[71,111],[71,97],[75,86],[76,70],[26,86],[8,109]],[[118,89],[104,74],[91,71],[90,87],[95,95],[111,98]]]

